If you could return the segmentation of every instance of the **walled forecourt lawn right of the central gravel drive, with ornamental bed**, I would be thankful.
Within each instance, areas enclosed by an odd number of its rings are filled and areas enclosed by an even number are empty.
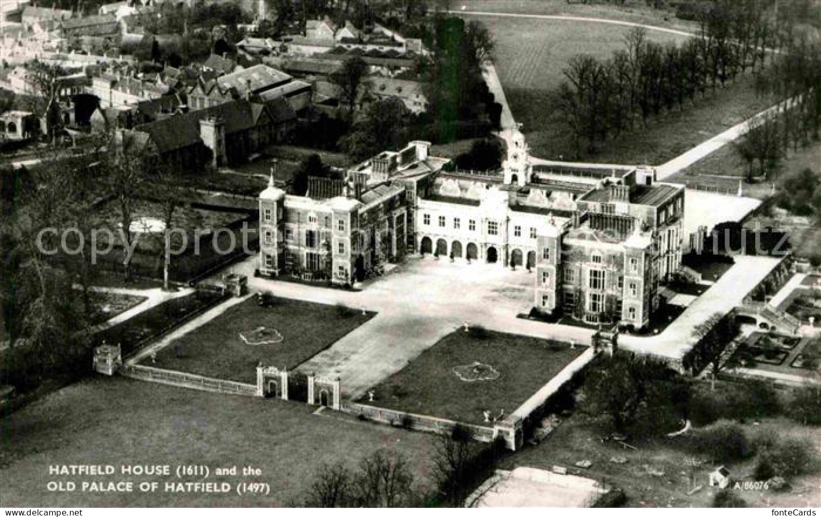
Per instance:
[[[369,404],[482,424],[484,410],[510,414],[583,351],[533,337],[501,332],[474,337],[460,330],[374,387]],[[499,377],[466,382],[454,373],[454,367],[476,361],[491,366]]]

